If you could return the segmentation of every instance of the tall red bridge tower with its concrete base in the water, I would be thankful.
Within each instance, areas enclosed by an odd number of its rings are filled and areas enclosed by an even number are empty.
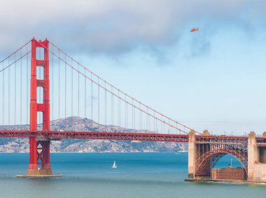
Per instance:
[[[36,49],[44,49],[43,60],[36,59]],[[37,68],[43,67],[43,77],[37,79]],[[37,103],[37,88],[43,88],[43,103]],[[30,131],[38,130],[38,112],[43,113],[43,131],[50,130],[50,79],[49,79],[49,41],[31,40],[31,103]],[[27,176],[52,175],[50,167],[50,139],[38,139],[36,135],[29,137],[29,169]]]

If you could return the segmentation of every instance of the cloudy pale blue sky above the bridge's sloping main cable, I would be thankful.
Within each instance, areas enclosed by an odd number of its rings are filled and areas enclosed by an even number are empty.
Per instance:
[[[1,59],[48,38],[198,131],[266,131],[265,1],[2,0],[0,8]]]

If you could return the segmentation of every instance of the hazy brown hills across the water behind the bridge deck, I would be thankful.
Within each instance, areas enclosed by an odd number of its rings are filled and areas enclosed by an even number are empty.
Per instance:
[[[90,130],[97,131],[118,131],[118,126],[101,125],[90,119],[80,117],[69,117],[50,122],[51,130]],[[1,130],[27,130],[29,125],[0,126]],[[41,128],[41,125],[38,125]],[[126,132],[134,130],[123,128]],[[141,132],[141,131],[138,131]],[[142,131],[143,132],[143,131]],[[52,141],[50,145],[51,152],[78,152],[78,153],[96,153],[96,152],[184,152],[187,151],[187,144],[176,142],[139,142],[139,141],[118,141],[102,139],[62,139]],[[0,152],[29,152],[29,140],[21,138],[1,138]]]

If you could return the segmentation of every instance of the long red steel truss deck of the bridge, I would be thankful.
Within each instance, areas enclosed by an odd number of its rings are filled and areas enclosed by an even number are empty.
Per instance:
[[[116,139],[153,142],[188,142],[188,135],[137,133],[137,132],[93,132],[93,131],[34,131],[0,130],[0,137],[37,137],[38,139]],[[256,137],[258,144],[266,144],[266,137]],[[225,135],[195,135],[197,144],[248,144],[248,137]]]

